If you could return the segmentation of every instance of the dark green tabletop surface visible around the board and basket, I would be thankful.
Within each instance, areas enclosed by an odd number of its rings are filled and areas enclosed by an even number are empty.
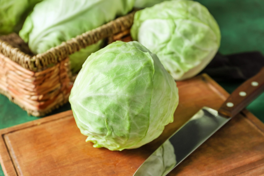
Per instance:
[[[264,54],[264,1],[263,0],[199,0],[215,17],[221,30],[221,54],[260,51]],[[218,82],[229,93],[242,82]],[[70,109],[67,103],[51,114]],[[264,122],[264,94],[247,109]],[[51,115],[48,114],[48,115]],[[0,95],[0,129],[39,119],[32,117],[8,98]],[[3,176],[0,167],[0,176]]]

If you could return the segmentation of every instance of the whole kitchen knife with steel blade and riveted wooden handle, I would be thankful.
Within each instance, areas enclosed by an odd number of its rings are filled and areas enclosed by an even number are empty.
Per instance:
[[[217,110],[203,107],[138,168],[134,176],[167,175],[264,91],[264,67],[235,89]]]

